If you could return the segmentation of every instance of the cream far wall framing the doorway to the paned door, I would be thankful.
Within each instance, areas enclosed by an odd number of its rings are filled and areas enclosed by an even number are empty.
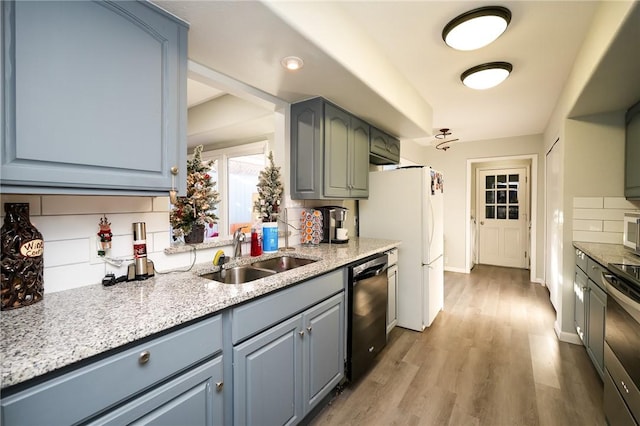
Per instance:
[[[454,143],[447,151],[433,147],[418,147],[415,143],[402,141],[403,158],[440,170],[444,174],[445,203],[445,268],[451,271],[464,271],[465,241],[467,222],[465,214],[467,200],[472,194],[467,193],[467,160],[484,158],[537,155],[538,156],[538,214],[537,214],[537,258],[540,259],[534,275],[536,279],[543,276],[542,259],[544,241],[544,168],[543,168],[542,135],[519,136],[514,138],[471,141]]]

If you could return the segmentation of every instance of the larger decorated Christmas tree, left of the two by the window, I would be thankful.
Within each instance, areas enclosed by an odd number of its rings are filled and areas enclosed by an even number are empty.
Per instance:
[[[214,210],[220,202],[220,194],[214,189],[215,182],[211,182],[209,170],[213,161],[202,161],[202,145],[193,150],[193,158],[187,160],[187,196],[178,197],[171,210],[170,220],[173,228],[173,238],[188,235],[191,230],[200,225],[216,223],[218,216]]]

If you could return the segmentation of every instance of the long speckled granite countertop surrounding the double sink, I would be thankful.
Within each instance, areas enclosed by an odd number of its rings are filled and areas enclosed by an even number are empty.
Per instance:
[[[58,293],[0,315],[2,388],[41,376],[130,342],[162,332],[358,259],[397,247],[400,241],[352,238],[348,244],[296,246],[286,255],[317,262],[247,284],[221,284],[199,274],[211,262],[188,272],[156,274],[145,281],[101,284]],[[267,254],[261,258],[281,256]],[[258,258],[243,257],[244,264]]]

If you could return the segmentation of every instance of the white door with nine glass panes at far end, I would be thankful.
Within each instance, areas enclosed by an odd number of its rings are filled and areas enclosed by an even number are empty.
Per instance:
[[[478,170],[479,263],[528,268],[527,169]]]

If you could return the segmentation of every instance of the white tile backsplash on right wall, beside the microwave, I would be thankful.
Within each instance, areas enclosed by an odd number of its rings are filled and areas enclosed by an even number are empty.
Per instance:
[[[640,212],[640,202],[623,197],[574,197],[573,241],[622,244],[627,211]]]

